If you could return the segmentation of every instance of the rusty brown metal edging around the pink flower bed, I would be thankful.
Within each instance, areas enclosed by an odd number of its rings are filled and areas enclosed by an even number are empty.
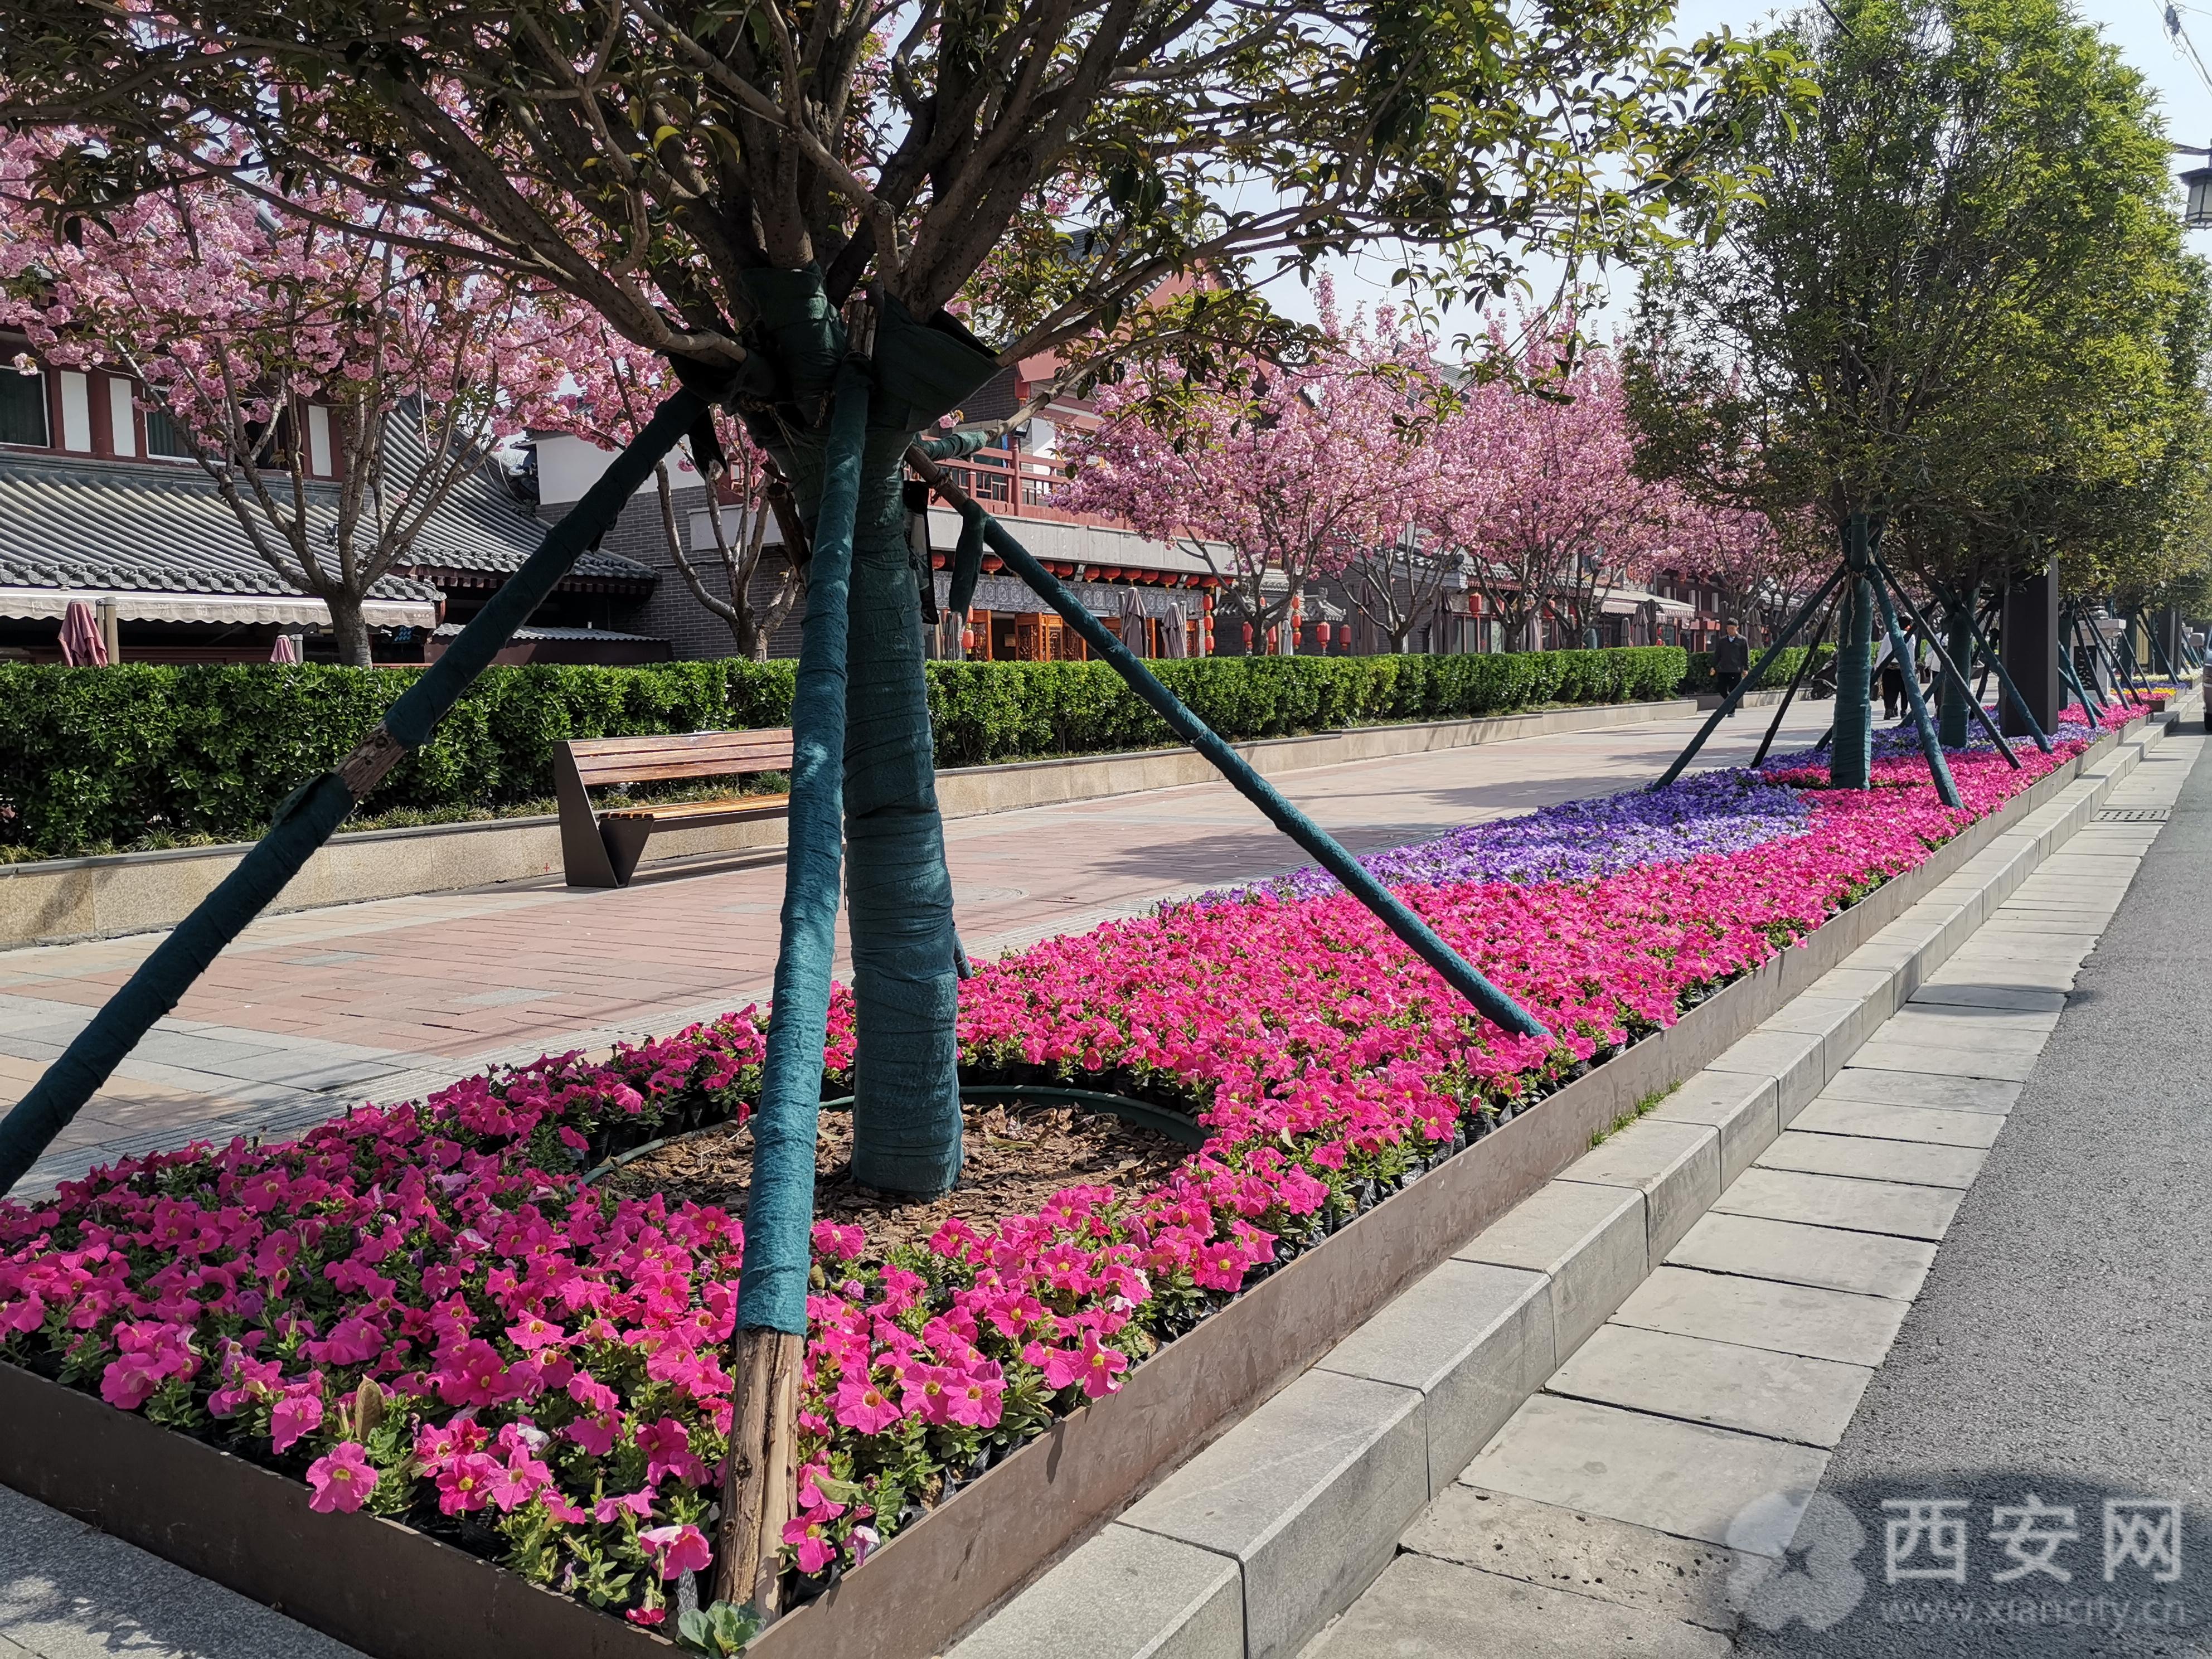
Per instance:
[[[2139,721],[1944,843],[1916,869],[1378,1203],[1060,1418],[772,1626],[757,1659],[922,1659],[1033,1582],[1301,1376],[1369,1314],[1588,1150],[1644,1095],[1712,1062],[1960,865],[2108,754]],[[376,1659],[644,1659],[664,1637],[398,1522],[310,1515],[307,1489],[190,1436],[0,1363],[0,1484]],[[987,1498],[989,1493],[989,1498]]]

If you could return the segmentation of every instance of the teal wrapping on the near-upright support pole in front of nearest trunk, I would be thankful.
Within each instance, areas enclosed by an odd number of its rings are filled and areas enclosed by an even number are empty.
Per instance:
[[[768,1018],[761,1104],[752,1115],[752,1190],[737,1323],[803,1334],[814,1239],[814,1139],[821,1126],[823,1044],[845,816],[847,604],[854,511],[867,442],[867,380],[847,367],[836,385],[816,480],[807,615],[799,624],[792,697],[792,807],[783,856],[776,993]],[[801,498],[803,500],[803,498]]]

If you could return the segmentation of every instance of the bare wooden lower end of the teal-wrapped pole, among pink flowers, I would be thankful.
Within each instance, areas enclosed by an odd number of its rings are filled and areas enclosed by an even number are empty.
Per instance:
[[[799,1427],[799,1378],[805,1336],[741,1329],[737,1394],[730,1402],[730,1462],[714,1528],[714,1599],[750,1601],[774,1619],[783,1564],[783,1524],[799,1509],[792,1433]]]

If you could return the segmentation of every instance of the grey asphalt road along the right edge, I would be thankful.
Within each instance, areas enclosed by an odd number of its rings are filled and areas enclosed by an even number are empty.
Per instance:
[[[1825,1632],[1747,1628],[1745,1655],[2212,1655],[2212,745],[1820,1489],[1865,1528],[1865,1599]],[[2031,1493],[2073,1524],[1993,1513]],[[1962,1500],[1922,1511],[1962,1537],[1885,1509],[1913,1500]],[[2108,1502],[2132,1546],[2110,1582]],[[2172,1577],[2157,1504],[2181,1506]],[[1891,1524],[1907,1568],[1949,1571],[1962,1544],[1964,1584],[1885,1582]],[[2048,1546],[2068,1577],[1993,1582],[2020,1568],[1995,1528],[2075,1531]]]

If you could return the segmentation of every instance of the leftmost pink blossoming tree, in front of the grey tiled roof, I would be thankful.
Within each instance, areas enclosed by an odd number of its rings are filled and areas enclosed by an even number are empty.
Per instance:
[[[285,210],[197,179],[58,239],[29,184],[53,148],[0,139],[0,323],[135,376],[254,553],[330,606],[338,659],[369,666],[363,599],[549,405],[577,307],[330,188]]]

